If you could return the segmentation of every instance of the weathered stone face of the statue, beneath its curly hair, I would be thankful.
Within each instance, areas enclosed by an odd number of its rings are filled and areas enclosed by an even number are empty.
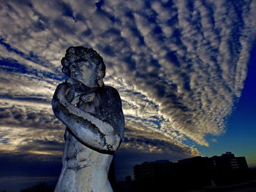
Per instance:
[[[97,70],[96,64],[90,61],[80,61],[75,66],[71,66],[71,77],[88,85],[88,83],[97,82]]]

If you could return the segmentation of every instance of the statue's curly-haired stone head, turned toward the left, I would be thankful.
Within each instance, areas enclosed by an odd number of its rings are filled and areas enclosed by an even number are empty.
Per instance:
[[[91,48],[69,47],[65,57],[61,59],[61,65],[61,71],[75,80],[95,80],[97,85],[104,85],[106,66],[102,57]]]

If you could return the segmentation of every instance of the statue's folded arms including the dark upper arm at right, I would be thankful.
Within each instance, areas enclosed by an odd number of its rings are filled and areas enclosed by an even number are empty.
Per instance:
[[[115,152],[124,134],[124,115],[116,89],[99,88],[101,115],[85,112],[71,104],[70,96],[67,98],[69,89],[67,82],[56,88],[52,101],[56,117],[84,145],[102,153]]]

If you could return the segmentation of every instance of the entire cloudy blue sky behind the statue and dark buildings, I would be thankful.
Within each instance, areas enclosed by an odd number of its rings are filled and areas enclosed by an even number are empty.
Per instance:
[[[65,126],[51,99],[70,46],[102,55],[135,164],[226,151],[256,166],[256,1],[0,0],[0,190],[54,183]]]

